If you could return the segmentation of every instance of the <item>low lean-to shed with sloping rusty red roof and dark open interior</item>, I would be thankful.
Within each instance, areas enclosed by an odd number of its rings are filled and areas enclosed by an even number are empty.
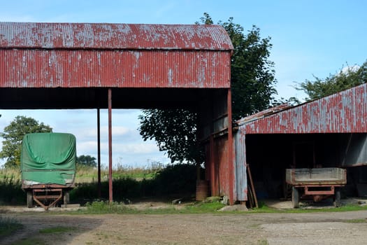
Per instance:
[[[366,84],[236,123],[237,200],[247,200],[247,165],[259,197],[285,196],[285,169],[291,167],[347,167],[351,195],[367,183]]]

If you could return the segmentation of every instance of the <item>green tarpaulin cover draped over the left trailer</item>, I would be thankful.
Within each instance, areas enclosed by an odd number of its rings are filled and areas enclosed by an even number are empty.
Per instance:
[[[75,176],[76,146],[73,134],[26,134],[22,142],[22,181],[65,185]]]

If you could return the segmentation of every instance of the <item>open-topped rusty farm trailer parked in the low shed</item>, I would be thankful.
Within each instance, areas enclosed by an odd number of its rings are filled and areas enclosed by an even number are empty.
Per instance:
[[[302,197],[315,202],[333,197],[335,207],[340,206],[340,188],[347,183],[347,171],[337,167],[313,169],[286,169],[286,182],[292,186],[292,205],[299,207]]]

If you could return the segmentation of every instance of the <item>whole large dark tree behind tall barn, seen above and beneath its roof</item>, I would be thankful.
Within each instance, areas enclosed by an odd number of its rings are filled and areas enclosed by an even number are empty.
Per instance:
[[[204,13],[200,25],[212,25],[213,20]],[[231,57],[231,90],[233,120],[267,109],[276,83],[273,62],[268,60],[271,50],[270,38],[261,38],[260,29],[252,26],[247,34],[243,27],[229,18],[228,22],[218,22],[226,29],[233,43]],[[154,139],[161,151],[167,151],[172,162],[200,163],[203,153],[196,141],[195,111],[183,109],[144,110],[139,116],[139,131],[144,140]]]

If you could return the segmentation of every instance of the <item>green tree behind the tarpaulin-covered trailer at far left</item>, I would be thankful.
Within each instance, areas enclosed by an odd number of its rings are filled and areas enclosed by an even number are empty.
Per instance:
[[[3,138],[0,158],[7,158],[5,167],[20,166],[20,152],[24,135],[38,132],[52,132],[52,127],[25,116],[16,116],[10,125],[4,127],[3,133],[0,134]]]

